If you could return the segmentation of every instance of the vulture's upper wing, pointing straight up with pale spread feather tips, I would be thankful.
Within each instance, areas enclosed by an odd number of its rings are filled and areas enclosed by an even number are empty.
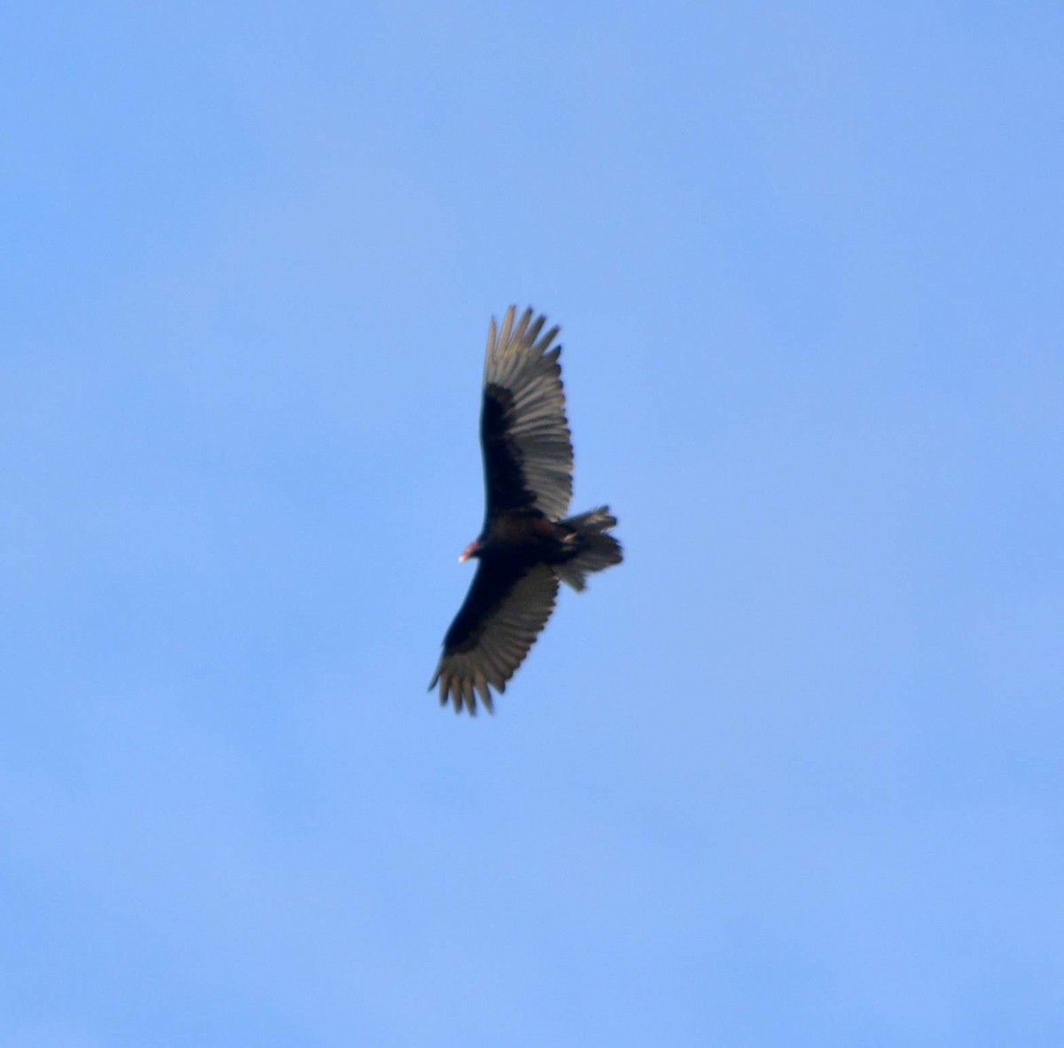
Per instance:
[[[514,307],[502,330],[487,332],[480,439],[484,453],[486,519],[537,510],[565,516],[572,498],[572,444],[565,418],[559,328],[541,337],[547,318],[526,310],[514,327]]]

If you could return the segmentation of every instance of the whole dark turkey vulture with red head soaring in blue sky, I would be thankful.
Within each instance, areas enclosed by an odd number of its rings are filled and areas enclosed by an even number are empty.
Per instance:
[[[484,455],[484,527],[459,558],[480,564],[465,602],[444,637],[429,691],[439,703],[477,713],[477,695],[493,712],[492,688],[528,654],[554,609],[559,582],[584,588],[584,576],[621,560],[609,534],[610,508],[562,519],[572,497],[572,445],[565,419],[559,328],[541,335],[547,318],[514,306],[502,330],[487,330],[480,443]]]

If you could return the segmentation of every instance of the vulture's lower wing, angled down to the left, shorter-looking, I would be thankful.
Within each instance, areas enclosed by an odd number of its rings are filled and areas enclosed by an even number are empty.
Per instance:
[[[500,694],[525,661],[554,609],[558,579],[544,564],[509,568],[477,565],[465,602],[444,637],[444,653],[429,691],[439,682],[439,703],[454,712],[477,712],[477,695],[492,711],[492,688]]]

